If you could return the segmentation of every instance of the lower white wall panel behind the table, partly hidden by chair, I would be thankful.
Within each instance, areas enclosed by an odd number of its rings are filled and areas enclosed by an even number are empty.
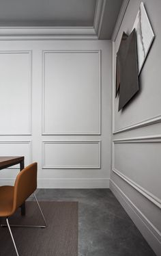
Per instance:
[[[0,155],[3,156],[24,156],[25,166],[31,164],[31,142],[30,141],[1,141]],[[20,168],[19,164],[10,168]]]

